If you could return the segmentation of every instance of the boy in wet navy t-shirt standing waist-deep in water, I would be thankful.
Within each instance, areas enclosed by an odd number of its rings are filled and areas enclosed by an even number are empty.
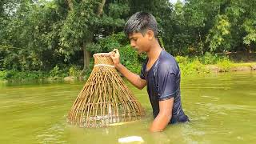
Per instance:
[[[126,22],[125,32],[130,39],[130,45],[138,53],[146,52],[147,55],[140,75],[122,66],[117,49],[114,49],[115,54],[111,56],[115,68],[129,82],[140,90],[147,85],[154,115],[150,131],[162,131],[169,123],[189,121],[182,110],[178,63],[159,45],[157,25],[154,16],[145,12],[132,15]]]

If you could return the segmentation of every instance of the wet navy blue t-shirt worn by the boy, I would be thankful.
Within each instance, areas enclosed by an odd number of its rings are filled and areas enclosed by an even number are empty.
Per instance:
[[[146,71],[147,62],[148,58],[142,65],[140,78],[145,79],[147,82],[147,92],[153,108],[154,118],[159,113],[159,101],[174,98],[170,123],[189,121],[182,110],[180,94],[181,73],[174,57],[167,53],[166,50],[162,50],[157,61],[148,71]]]

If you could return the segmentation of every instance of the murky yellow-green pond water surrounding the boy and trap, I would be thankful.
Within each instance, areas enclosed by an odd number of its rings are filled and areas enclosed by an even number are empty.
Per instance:
[[[66,123],[82,82],[0,82],[1,143],[118,143],[139,136],[144,143],[256,142],[256,73],[182,78],[182,106],[191,122],[150,133],[153,121],[146,89],[130,90],[146,108],[137,122],[99,129]]]

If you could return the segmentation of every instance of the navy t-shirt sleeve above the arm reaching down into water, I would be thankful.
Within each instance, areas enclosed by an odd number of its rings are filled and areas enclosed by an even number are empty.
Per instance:
[[[163,101],[176,95],[178,90],[177,67],[162,64],[158,67],[158,100]]]

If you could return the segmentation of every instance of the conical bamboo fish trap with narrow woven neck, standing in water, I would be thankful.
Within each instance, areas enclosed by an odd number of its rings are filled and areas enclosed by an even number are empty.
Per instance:
[[[94,69],[68,114],[71,124],[102,127],[144,115],[141,104],[114,68],[110,54],[94,54]]]

